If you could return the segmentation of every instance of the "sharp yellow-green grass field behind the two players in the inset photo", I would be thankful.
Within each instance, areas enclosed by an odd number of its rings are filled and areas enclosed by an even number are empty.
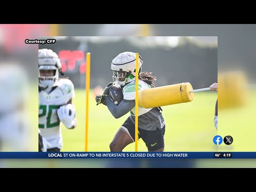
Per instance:
[[[213,151],[212,138],[217,134],[214,127],[214,107],[216,92],[198,92],[194,100],[163,107],[166,123],[165,151]],[[85,90],[76,90],[73,100],[77,113],[77,127],[68,130],[62,127],[62,151],[85,151]],[[89,103],[89,151],[109,151],[109,143],[115,132],[123,124],[125,116],[115,119],[104,105],[96,106],[94,95],[90,94]],[[135,143],[124,151],[134,151]],[[139,151],[147,151],[140,139]]]

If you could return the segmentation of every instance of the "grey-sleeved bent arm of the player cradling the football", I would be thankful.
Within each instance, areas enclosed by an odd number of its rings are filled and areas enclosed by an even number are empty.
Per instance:
[[[135,107],[135,100],[125,100],[123,99],[118,106],[113,103],[108,96],[104,96],[108,110],[115,118],[120,118]]]

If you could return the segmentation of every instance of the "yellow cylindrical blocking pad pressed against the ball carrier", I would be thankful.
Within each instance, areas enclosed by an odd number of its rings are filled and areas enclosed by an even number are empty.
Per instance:
[[[178,103],[190,102],[194,93],[190,83],[179,83],[154,87],[139,92],[139,106],[144,108],[161,107]]]

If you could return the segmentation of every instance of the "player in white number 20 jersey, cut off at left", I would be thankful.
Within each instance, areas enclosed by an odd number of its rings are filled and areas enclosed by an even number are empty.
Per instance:
[[[60,151],[63,147],[60,122],[68,129],[76,126],[76,111],[72,104],[74,84],[67,78],[59,78],[59,74],[63,74],[61,62],[50,49],[38,50],[38,69],[39,131],[51,146],[47,151]]]

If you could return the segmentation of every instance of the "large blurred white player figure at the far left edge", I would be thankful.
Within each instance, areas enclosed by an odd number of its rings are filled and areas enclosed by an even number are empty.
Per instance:
[[[28,81],[19,62],[0,63],[0,151],[30,151]]]

